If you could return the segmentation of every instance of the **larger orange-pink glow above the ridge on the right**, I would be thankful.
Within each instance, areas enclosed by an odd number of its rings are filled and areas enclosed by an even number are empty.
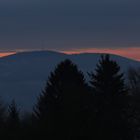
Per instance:
[[[140,61],[140,48],[127,47],[127,48],[83,48],[83,49],[71,49],[67,51],[61,51],[66,54],[79,54],[79,53],[109,53],[124,56],[127,58]]]

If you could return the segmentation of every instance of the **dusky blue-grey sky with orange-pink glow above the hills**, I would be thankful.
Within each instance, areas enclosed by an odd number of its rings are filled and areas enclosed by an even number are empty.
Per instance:
[[[140,60],[139,0],[0,0],[0,56],[107,52]]]

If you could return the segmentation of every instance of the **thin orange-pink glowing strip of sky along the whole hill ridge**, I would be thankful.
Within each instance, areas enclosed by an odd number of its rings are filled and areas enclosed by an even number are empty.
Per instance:
[[[64,53],[68,55],[73,54],[84,54],[84,53],[98,53],[98,54],[114,54],[129,59],[133,59],[140,62],[140,48],[139,47],[128,47],[128,48],[82,48],[82,49],[70,49],[70,50],[61,50],[61,49],[17,49],[11,51],[0,51],[0,58],[14,55],[22,52],[34,52],[34,51],[52,51],[58,53]]]

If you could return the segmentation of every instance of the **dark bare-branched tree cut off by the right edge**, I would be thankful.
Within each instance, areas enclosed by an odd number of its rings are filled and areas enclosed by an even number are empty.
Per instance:
[[[135,135],[140,139],[140,68],[128,70],[128,87],[131,95],[131,121]]]

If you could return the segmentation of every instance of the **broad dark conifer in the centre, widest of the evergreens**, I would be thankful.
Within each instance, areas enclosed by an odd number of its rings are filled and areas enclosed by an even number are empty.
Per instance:
[[[43,125],[47,124],[50,135],[63,135],[64,139],[83,136],[89,99],[86,92],[83,73],[65,60],[51,72],[34,114]]]

